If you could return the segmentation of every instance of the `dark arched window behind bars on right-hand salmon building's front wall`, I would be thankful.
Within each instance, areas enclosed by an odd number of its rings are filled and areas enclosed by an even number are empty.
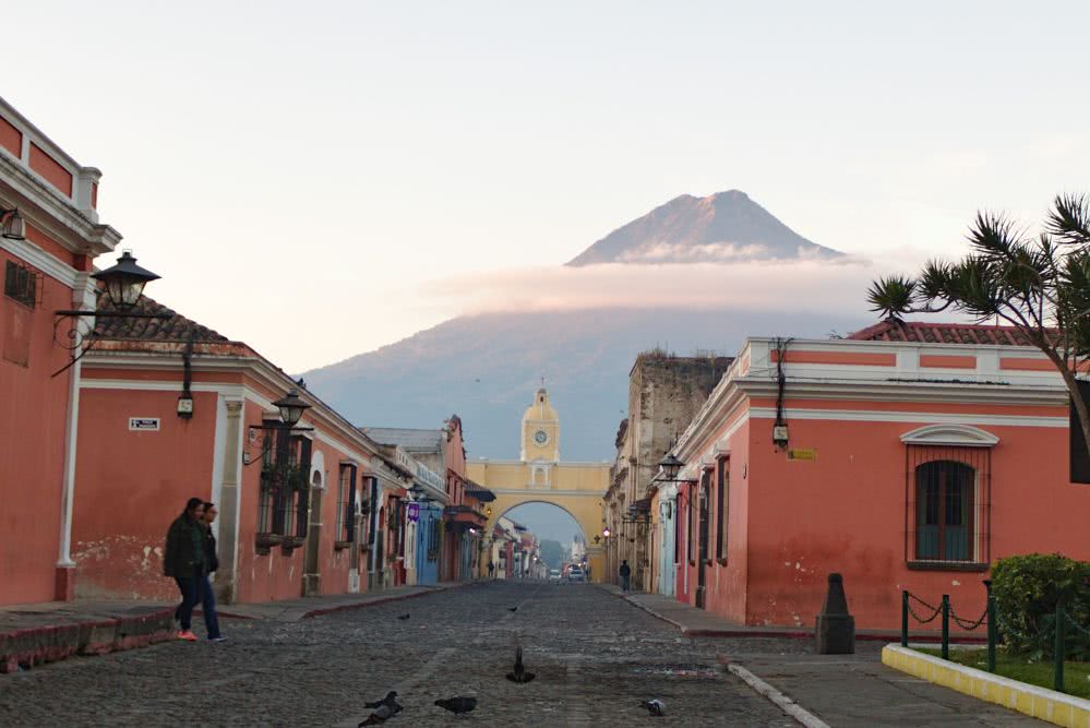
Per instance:
[[[975,561],[977,470],[938,460],[915,468],[915,558]]]

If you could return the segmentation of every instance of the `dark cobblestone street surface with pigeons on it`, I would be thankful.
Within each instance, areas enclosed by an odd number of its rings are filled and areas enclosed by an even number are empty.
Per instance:
[[[508,607],[518,606],[511,612]],[[397,616],[408,612],[408,620]],[[724,673],[732,640],[678,631],[590,585],[493,582],[295,623],[227,620],[230,640],[166,643],[0,676],[0,725],[356,726],[395,689],[386,726],[794,726]],[[516,641],[537,679],[504,679]],[[799,640],[745,652],[804,653]],[[456,718],[432,703],[476,695]],[[666,718],[639,707],[659,697]]]

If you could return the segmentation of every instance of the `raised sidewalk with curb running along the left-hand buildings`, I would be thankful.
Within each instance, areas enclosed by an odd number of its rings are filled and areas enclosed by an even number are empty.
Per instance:
[[[295,622],[345,609],[410,599],[474,582],[399,586],[262,604],[224,605],[219,616]],[[0,607],[0,673],[72,655],[103,655],[173,639],[176,604],[164,601],[47,601]],[[197,609],[195,614],[200,614]]]

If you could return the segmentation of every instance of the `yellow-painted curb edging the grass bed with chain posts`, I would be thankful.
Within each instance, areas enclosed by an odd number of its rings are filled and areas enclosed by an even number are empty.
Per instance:
[[[882,664],[1057,726],[1090,728],[1090,700],[992,675],[900,645],[883,647]]]

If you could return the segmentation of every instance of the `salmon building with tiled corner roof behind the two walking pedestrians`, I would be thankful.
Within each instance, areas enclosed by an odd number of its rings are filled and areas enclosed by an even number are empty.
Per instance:
[[[77,594],[173,599],[161,548],[190,497],[219,506],[221,601],[364,590],[366,516],[390,502],[379,481],[399,481],[376,443],[245,344],[140,309],[161,318],[100,320],[82,362]],[[288,428],[277,403],[294,391],[309,408]]]

